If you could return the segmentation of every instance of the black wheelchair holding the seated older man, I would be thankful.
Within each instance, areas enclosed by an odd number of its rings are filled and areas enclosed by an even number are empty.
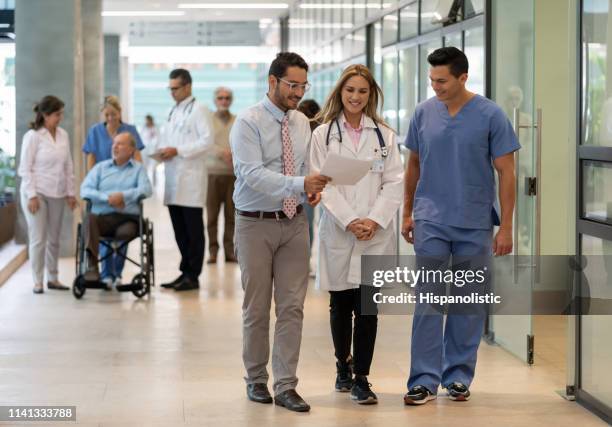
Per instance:
[[[132,237],[129,240],[117,240],[115,236],[100,236],[100,245],[110,249],[110,251],[103,257],[98,258],[98,263],[106,260],[107,258],[117,255],[123,257],[126,261],[131,262],[135,266],[140,268],[140,272],[136,274],[132,281],[128,284],[122,284],[117,286],[119,292],[132,292],[136,297],[142,298],[151,292],[151,287],[155,286],[155,258],[153,255],[154,241],[153,241],[153,222],[145,218],[143,215],[143,202],[144,198],[138,200],[139,214],[138,214],[138,235]],[[91,212],[91,201],[85,199],[87,202],[86,218]],[[72,284],[72,293],[76,299],[83,298],[87,289],[105,289],[106,284],[101,280],[91,282],[85,280],[85,271],[87,269],[87,253],[85,247],[85,221],[79,223],[77,227],[77,242],[76,242],[76,272],[75,279]],[[129,256],[123,255],[121,250],[127,248],[128,244],[140,238],[140,262],[134,261]]]

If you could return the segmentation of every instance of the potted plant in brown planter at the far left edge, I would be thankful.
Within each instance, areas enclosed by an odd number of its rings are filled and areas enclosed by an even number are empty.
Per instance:
[[[0,149],[0,245],[15,235],[15,157]]]

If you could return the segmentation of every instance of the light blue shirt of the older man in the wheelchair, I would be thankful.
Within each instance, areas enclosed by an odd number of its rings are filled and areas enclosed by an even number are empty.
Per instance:
[[[125,208],[121,210],[108,204],[108,196],[118,192],[123,193],[125,201]],[[153,191],[147,172],[133,159],[123,166],[117,166],[112,159],[96,163],[81,184],[81,197],[91,200],[91,212],[96,215],[138,215],[138,198],[149,197],[151,194]]]

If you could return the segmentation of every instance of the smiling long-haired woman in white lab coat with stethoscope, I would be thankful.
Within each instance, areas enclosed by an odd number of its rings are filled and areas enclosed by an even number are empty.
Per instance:
[[[393,130],[378,116],[382,92],[370,70],[344,70],[316,120],[310,161],[321,170],[328,153],[373,160],[355,185],[325,187],[321,194],[317,285],[330,293],[330,323],[336,355],[336,391],[360,404],[377,402],[368,383],[377,316],[362,314],[362,255],[395,255],[395,216],[403,196],[403,166]],[[353,327],[353,313],[354,327]],[[351,341],[354,354],[351,357]],[[353,378],[353,372],[355,377]]]

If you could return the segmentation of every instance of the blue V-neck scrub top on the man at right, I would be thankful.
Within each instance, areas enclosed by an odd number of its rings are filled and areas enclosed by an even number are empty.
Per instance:
[[[493,163],[521,148],[504,111],[476,95],[451,117],[436,97],[419,104],[406,146],[419,155],[413,218],[470,229],[499,225]]]

